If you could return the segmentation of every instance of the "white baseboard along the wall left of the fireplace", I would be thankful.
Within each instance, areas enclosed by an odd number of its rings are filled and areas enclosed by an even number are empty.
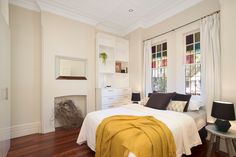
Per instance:
[[[11,127],[11,138],[26,136],[40,132],[41,132],[40,122],[14,125]]]

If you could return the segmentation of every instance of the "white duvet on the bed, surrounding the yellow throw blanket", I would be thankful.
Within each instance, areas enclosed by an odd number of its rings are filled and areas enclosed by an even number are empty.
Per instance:
[[[153,116],[164,122],[171,130],[176,144],[176,155],[190,155],[191,148],[201,144],[196,124],[192,117],[174,111],[156,110],[137,104],[124,105],[122,107],[95,111],[89,113],[83,122],[77,139],[78,144],[87,142],[87,145],[95,151],[96,148],[96,129],[104,118],[113,115],[135,115]],[[129,157],[135,156],[130,153]]]

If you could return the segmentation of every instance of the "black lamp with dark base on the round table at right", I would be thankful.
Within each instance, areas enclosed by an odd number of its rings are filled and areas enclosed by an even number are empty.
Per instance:
[[[231,102],[214,101],[211,116],[217,118],[215,126],[219,131],[227,132],[231,127],[229,120],[235,120],[234,104]]]

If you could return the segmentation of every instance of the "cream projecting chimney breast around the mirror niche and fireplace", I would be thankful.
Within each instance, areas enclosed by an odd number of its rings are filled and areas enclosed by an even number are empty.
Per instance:
[[[95,110],[95,28],[42,12],[42,131],[54,130],[54,98],[87,95],[87,112]],[[88,80],[56,80],[55,56],[87,59]]]

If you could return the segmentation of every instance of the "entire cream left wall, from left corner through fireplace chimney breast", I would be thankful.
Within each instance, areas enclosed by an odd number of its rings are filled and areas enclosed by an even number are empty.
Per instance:
[[[96,28],[14,5],[10,7],[10,26],[12,137],[41,132],[41,129],[53,131],[54,97],[87,95],[86,101],[80,102],[88,104],[87,112],[93,111]],[[87,59],[88,80],[55,80],[55,55]]]

